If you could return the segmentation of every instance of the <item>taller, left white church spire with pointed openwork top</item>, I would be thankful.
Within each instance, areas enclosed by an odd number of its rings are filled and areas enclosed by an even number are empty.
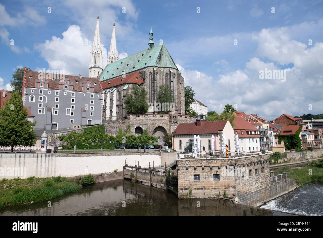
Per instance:
[[[96,78],[102,72],[102,47],[100,40],[99,16],[95,27],[89,63],[89,77]]]

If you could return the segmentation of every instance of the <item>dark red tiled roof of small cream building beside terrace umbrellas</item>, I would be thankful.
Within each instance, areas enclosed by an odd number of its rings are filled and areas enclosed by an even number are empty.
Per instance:
[[[202,125],[197,126],[196,122],[180,123],[174,130],[175,135],[198,135],[198,134],[217,134],[224,129],[228,120],[221,121],[201,121]]]

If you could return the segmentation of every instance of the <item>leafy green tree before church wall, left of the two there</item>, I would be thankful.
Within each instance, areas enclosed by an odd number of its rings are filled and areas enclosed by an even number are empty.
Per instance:
[[[147,92],[144,87],[132,86],[131,93],[124,101],[128,114],[141,114],[148,111]]]

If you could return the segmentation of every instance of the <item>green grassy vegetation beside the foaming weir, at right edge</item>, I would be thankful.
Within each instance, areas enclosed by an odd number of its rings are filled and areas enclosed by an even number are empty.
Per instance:
[[[313,166],[314,165],[314,166]],[[322,167],[320,167],[322,166]],[[287,177],[296,181],[297,186],[304,185],[310,182],[323,181],[323,162],[310,162],[309,166],[302,168],[283,167],[274,170],[275,175],[288,173]]]

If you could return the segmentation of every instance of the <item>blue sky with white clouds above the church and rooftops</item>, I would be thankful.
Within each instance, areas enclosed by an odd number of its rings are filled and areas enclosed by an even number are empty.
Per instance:
[[[323,113],[322,13],[321,0],[1,0],[0,88],[20,66],[88,75],[99,15],[105,54],[113,22],[121,56],[148,48],[152,24],[155,44],[163,41],[185,85],[209,110],[221,112],[230,103],[269,120],[282,113]],[[259,79],[265,68],[286,70],[286,81]]]

